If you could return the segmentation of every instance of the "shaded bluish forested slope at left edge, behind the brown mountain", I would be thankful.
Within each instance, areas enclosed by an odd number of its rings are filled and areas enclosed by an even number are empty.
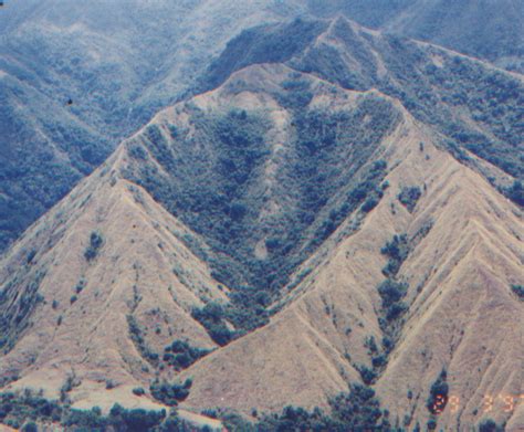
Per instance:
[[[0,64],[20,76],[20,66],[6,64],[6,56]],[[105,133],[71,116],[55,96],[38,91],[33,85],[39,85],[42,64],[33,66],[32,76],[10,77],[0,88],[0,252],[102,164],[115,145]]]

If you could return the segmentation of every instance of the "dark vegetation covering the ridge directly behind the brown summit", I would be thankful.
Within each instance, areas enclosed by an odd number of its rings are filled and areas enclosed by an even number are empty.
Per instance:
[[[374,2],[380,3],[380,0]],[[358,8],[373,10],[361,4]],[[378,9],[381,8],[384,4]],[[263,63],[277,46],[265,35],[281,30],[282,27],[264,27],[240,34],[216,61],[207,78],[221,82],[216,80],[217,71]],[[331,28],[331,36],[337,39],[336,48],[327,42],[307,45],[307,50],[294,53],[287,64],[345,88],[378,88],[398,98],[418,120],[436,127],[458,159],[469,161],[465,155],[469,150],[517,180],[524,179],[524,148],[520,143],[524,134],[520,120],[524,92],[518,78],[391,34],[385,38],[359,34],[343,20]],[[307,44],[308,39],[303,38],[303,42]],[[253,50],[261,45],[263,50]],[[234,46],[242,50],[234,51]],[[233,55],[242,60],[231,62]],[[441,64],[434,64],[436,56],[442,60]],[[347,61],[348,57],[352,61]],[[386,70],[386,74],[379,73],[380,69]],[[507,193],[513,200],[522,197],[521,192],[516,197]]]

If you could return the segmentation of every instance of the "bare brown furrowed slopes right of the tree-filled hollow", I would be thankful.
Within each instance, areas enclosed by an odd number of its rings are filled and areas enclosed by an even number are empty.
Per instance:
[[[327,396],[356,379],[356,369],[373,368],[366,340],[385,336],[376,291],[385,278],[380,250],[402,233],[410,252],[397,277],[409,283],[409,310],[376,384],[392,420],[401,423],[406,415],[406,425],[426,424],[426,400],[442,368],[460,404],[457,412],[450,404],[438,417],[439,428],[478,424],[484,396],[501,393],[518,402],[524,312],[511,285],[524,276],[522,214],[436,147],[432,134],[408,113],[402,117],[380,149],[392,166],[389,188],[360,230],[347,236],[350,221],[343,224],[338,242],[335,233],[319,262],[312,259],[312,272],[271,324],[187,370],[195,378],[187,403],[233,407],[247,414],[289,403],[325,405]],[[397,198],[406,186],[425,189],[412,213]],[[520,430],[522,403],[513,410],[503,400],[495,403],[490,417]]]

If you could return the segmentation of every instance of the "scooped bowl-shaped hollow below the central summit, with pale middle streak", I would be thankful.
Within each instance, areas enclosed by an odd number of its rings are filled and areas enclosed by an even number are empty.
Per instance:
[[[276,294],[375,193],[385,167],[371,158],[397,117],[373,93],[248,67],[158,115],[128,143],[125,176],[223,254],[213,270],[227,285]]]

